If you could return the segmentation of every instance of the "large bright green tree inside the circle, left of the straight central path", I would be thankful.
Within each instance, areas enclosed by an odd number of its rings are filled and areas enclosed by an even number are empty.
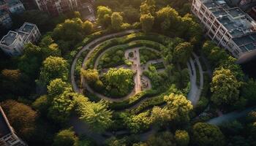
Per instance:
[[[116,88],[118,94],[124,96],[134,85],[134,82],[132,80],[133,75],[134,72],[132,72],[131,69],[120,68],[110,69],[106,74],[104,74],[104,77],[108,83],[107,88]]]

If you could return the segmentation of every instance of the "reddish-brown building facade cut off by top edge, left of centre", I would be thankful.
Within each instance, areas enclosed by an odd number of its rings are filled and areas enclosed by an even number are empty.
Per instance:
[[[35,0],[41,11],[49,15],[59,15],[78,9],[79,0]]]

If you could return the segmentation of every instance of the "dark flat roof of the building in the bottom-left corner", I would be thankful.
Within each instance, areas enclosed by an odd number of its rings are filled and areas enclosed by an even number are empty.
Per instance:
[[[0,107],[0,138],[11,133],[11,130],[7,124],[7,120],[4,118],[4,111]]]

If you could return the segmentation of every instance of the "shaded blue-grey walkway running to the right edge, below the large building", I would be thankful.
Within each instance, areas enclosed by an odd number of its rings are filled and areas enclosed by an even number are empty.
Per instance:
[[[219,116],[217,118],[212,118],[211,120],[208,120],[206,123],[210,123],[210,124],[219,126],[222,123],[245,117],[252,110],[256,110],[256,107],[249,107],[246,110],[230,112],[230,113],[224,114],[222,116]]]

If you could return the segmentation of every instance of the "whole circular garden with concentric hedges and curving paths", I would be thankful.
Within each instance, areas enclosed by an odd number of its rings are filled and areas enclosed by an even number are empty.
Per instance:
[[[73,89],[91,101],[110,101],[111,110],[135,114],[165,104],[164,96],[170,93],[183,94],[196,104],[203,71],[195,53],[183,64],[175,61],[173,49],[181,42],[137,30],[94,39],[73,61]]]

